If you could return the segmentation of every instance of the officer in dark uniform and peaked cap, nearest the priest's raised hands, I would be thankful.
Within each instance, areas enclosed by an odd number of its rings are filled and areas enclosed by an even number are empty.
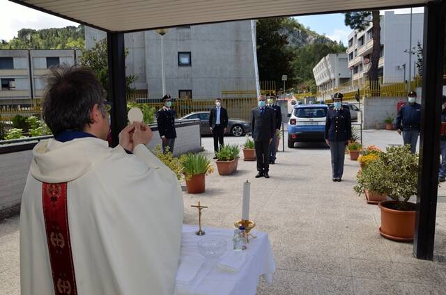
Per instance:
[[[161,100],[163,106],[156,112],[156,122],[162,140],[162,152],[165,153],[169,150],[169,152],[174,153],[176,138],[175,111],[171,109],[172,102],[170,95],[164,95]]]

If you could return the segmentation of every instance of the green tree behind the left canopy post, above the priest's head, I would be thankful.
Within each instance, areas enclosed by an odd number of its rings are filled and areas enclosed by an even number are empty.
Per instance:
[[[125,56],[127,56],[128,50],[125,50]],[[92,49],[85,49],[82,52],[82,56],[79,58],[80,64],[84,67],[89,67],[95,72],[102,87],[105,90],[109,89],[109,73],[108,73],[108,59],[107,59],[107,39],[102,39],[96,42],[95,47]],[[125,77],[126,93],[131,94],[134,92],[132,83],[137,80],[137,76],[130,75]]]

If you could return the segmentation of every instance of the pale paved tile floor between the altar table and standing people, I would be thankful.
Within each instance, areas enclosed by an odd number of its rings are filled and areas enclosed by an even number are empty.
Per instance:
[[[226,138],[243,143],[244,138]],[[364,131],[364,144],[401,143],[394,131]],[[212,138],[203,138],[207,151]],[[281,145],[282,148],[282,145]],[[206,152],[212,155],[211,152]],[[251,218],[269,234],[277,271],[258,294],[446,294],[446,197],[438,202],[435,262],[416,260],[413,245],[380,237],[380,212],[353,193],[358,164],[346,158],[344,181],[330,176],[330,152],[285,148],[269,180],[255,179],[255,162],[206,178],[206,193],[185,193],[185,223],[197,223],[198,200],[209,206],[203,224],[231,228],[240,219],[243,182],[252,182]],[[446,196],[445,186],[439,189]],[[0,222],[0,294],[19,294],[18,217]],[[442,258],[443,257],[443,258]],[[440,260],[440,261],[439,261]],[[443,262],[441,262],[443,261]]]

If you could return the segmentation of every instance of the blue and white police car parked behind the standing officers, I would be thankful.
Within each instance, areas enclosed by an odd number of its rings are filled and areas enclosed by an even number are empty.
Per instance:
[[[325,104],[295,105],[288,122],[288,147],[294,148],[294,143],[299,142],[325,141],[327,111]]]

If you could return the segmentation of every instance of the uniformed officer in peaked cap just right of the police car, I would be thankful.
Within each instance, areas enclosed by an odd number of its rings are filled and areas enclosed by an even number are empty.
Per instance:
[[[332,177],[340,182],[344,173],[346,145],[351,139],[351,115],[348,108],[342,106],[342,93],[334,93],[334,106],[327,112],[325,120],[325,142],[332,154]]]

